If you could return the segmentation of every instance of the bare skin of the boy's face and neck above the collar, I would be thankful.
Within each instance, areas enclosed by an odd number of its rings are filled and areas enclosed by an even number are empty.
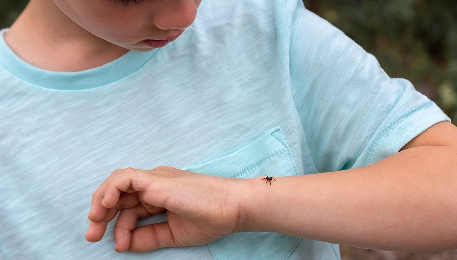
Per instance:
[[[52,71],[81,71],[129,50],[150,51],[143,40],[181,35],[201,0],[31,0],[5,34],[28,63]],[[62,58],[64,57],[64,58]]]

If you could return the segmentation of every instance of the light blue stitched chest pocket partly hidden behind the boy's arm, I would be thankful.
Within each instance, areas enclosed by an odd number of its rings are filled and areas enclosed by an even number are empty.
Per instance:
[[[279,126],[264,131],[248,144],[182,169],[231,178],[258,177],[259,182],[265,177],[264,174],[270,177],[298,175],[295,161]],[[271,185],[274,185],[272,182]],[[274,202],[265,202],[266,214],[270,206],[274,206]],[[208,246],[214,259],[218,260],[287,259],[299,241],[299,237],[280,233],[239,232],[208,243]]]

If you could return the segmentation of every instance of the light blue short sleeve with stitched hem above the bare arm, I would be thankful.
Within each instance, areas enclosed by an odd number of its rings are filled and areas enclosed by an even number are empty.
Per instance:
[[[290,84],[319,172],[370,165],[450,118],[410,81],[390,78],[377,59],[328,21],[286,1]]]

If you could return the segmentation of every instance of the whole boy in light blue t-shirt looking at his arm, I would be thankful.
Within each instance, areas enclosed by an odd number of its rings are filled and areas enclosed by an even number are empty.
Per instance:
[[[1,35],[6,258],[456,246],[450,119],[301,1],[31,0]]]

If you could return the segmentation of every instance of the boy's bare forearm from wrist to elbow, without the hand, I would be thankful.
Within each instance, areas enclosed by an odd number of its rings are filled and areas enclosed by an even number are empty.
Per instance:
[[[244,231],[390,251],[457,247],[457,149],[413,147],[350,170],[249,179]]]

